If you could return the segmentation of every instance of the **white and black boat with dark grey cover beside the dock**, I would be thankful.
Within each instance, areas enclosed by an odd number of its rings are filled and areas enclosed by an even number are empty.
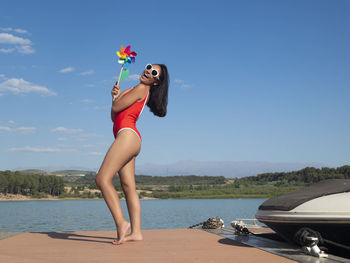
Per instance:
[[[339,248],[337,244],[346,249],[350,247],[350,179],[324,180],[268,199],[256,218],[287,241],[295,242],[298,231],[308,228],[319,233],[328,249]]]

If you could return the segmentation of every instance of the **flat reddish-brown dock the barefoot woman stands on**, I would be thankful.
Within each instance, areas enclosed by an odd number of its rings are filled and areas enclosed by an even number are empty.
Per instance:
[[[0,262],[296,262],[202,229],[143,230],[144,240],[112,245],[116,231],[6,235]]]

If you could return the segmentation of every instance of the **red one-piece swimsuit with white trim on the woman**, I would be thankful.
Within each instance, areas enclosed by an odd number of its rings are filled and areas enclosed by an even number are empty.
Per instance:
[[[130,89],[129,91],[131,91]],[[129,91],[125,92],[122,96],[127,94]],[[114,118],[114,125],[113,125],[113,134],[114,138],[117,137],[118,133],[122,130],[129,129],[132,130],[139,136],[141,140],[141,134],[136,129],[136,121],[141,115],[143,108],[146,105],[147,98],[148,98],[149,91],[147,91],[147,94],[145,98],[141,101],[135,101],[133,104],[131,104],[126,109],[117,112]]]

